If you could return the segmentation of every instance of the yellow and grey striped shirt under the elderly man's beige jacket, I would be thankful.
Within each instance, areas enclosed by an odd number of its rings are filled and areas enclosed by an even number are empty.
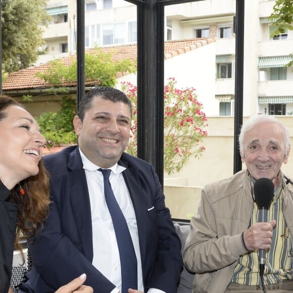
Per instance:
[[[266,252],[264,283],[278,283],[284,279],[293,279],[291,235],[282,212],[282,184],[274,191],[274,199],[268,210],[268,222],[276,220],[273,229],[271,248]],[[257,223],[259,209],[254,203],[250,226]],[[252,251],[239,257],[234,269],[233,283],[261,285],[259,274],[259,251]]]

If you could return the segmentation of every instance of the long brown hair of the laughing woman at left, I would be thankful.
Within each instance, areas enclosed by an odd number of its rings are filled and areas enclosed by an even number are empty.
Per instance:
[[[0,95],[0,120],[7,117],[6,109],[9,106],[24,107],[9,96]],[[1,131],[1,130],[0,130]],[[20,193],[16,185],[11,190],[11,197],[18,205],[17,230],[15,247],[21,252],[20,240],[35,235],[37,229],[42,227],[43,221],[48,213],[50,204],[50,185],[48,173],[45,170],[42,160],[38,164],[39,172],[20,182],[25,194]],[[23,256],[23,254],[22,254]]]

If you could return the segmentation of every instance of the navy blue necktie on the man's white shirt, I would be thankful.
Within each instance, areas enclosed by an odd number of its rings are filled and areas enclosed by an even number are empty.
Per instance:
[[[99,169],[104,176],[104,192],[106,203],[112,218],[116,234],[120,263],[121,263],[121,293],[127,293],[128,288],[137,290],[137,260],[130,232],[125,217],[114,196],[109,176],[110,169]]]

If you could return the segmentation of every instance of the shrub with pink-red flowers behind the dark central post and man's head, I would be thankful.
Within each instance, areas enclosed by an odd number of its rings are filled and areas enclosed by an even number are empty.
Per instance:
[[[168,175],[179,172],[190,157],[198,158],[205,151],[200,143],[207,135],[202,129],[207,126],[207,118],[202,112],[202,104],[197,100],[196,89],[178,89],[175,84],[175,79],[170,78],[164,93],[164,171]],[[122,91],[129,97],[133,107],[132,127],[126,152],[136,156],[137,87],[129,82],[122,82]]]

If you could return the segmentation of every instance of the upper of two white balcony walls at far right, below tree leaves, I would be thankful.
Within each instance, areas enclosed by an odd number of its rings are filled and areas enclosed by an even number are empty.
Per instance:
[[[293,39],[270,40],[260,42],[258,45],[258,56],[287,56],[293,48]]]

